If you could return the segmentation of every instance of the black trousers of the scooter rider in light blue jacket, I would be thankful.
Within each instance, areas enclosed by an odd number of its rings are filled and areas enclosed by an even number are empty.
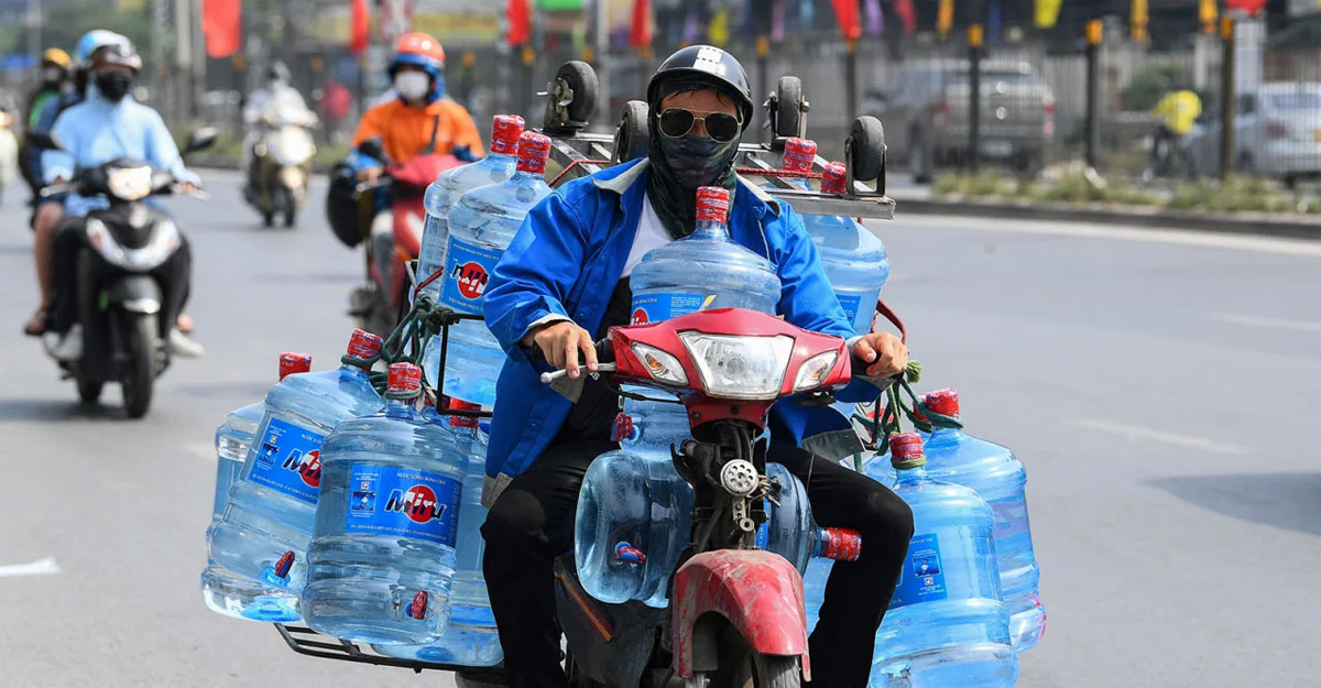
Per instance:
[[[54,243],[54,277],[55,293],[50,309],[50,331],[63,334],[74,322],[78,322],[78,256],[83,251],[91,251],[87,243],[87,218],[65,217],[55,232]],[[193,251],[188,239],[180,234],[180,247],[165,263],[156,265],[151,275],[161,287],[161,317],[160,331],[164,335],[174,327],[178,314],[188,304],[193,273]],[[99,261],[104,271],[114,271]],[[100,279],[103,271],[95,271],[94,279]]]

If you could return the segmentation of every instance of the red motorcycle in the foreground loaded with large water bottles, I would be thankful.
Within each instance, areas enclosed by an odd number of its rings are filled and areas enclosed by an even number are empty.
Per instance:
[[[561,561],[569,684],[659,688],[679,679],[692,688],[794,688],[810,680],[802,577],[757,545],[764,503],[781,489],[768,479],[766,444],[757,437],[775,401],[807,394],[828,403],[848,384],[853,362],[844,339],[717,309],[612,327],[597,354],[612,383],[664,390],[688,411],[692,438],[672,458],[694,489],[692,536],[670,581],[668,609],[600,603]],[[542,382],[569,399],[583,384],[564,371]]]

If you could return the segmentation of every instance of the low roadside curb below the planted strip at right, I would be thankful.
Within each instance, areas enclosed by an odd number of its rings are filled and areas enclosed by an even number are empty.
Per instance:
[[[1197,230],[1321,240],[1321,215],[1225,213],[1199,214],[1161,209],[1116,209],[1096,205],[1005,203],[971,198],[894,198],[894,217],[963,215],[995,219],[1091,222],[1162,230]]]

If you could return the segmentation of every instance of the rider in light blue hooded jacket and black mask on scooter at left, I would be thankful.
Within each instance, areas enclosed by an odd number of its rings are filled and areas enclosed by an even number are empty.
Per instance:
[[[42,155],[46,182],[73,178],[78,168],[95,166],[108,160],[128,157],[144,160],[155,168],[170,170],[184,191],[196,190],[198,178],[184,166],[174,139],[161,116],[133,100],[128,91],[141,70],[141,58],[131,45],[107,45],[91,55],[91,85],[82,103],[70,107],[55,120],[50,132],[58,149]],[[87,242],[85,227],[90,210],[103,207],[103,198],[70,194],[65,201],[65,219],[54,243],[54,308],[50,314],[52,354],[61,361],[74,361],[82,354],[82,335],[77,327],[75,285],[78,252]],[[202,346],[177,326],[188,301],[192,254],[186,240],[155,275],[164,285],[161,308],[162,330],[169,334],[165,346],[180,357],[199,357]]]

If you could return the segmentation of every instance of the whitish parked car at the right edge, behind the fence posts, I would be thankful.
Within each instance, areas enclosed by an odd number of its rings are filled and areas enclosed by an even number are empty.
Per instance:
[[[1210,110],[1188,135],[1188,155],[1199,176],[1221,173],[1219,110]],[[1321,177],[1321,83],[1273,82],[1234,96],[1234,170],[1293,185]]]

